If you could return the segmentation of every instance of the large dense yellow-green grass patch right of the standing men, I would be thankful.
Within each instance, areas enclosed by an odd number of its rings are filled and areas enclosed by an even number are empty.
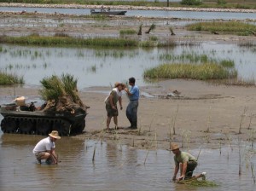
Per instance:
[[[144,78],[190,78],[190,79],[224,79],[236,78],[236,70],[230,70],[218,63],[174,63],[161,64],[144,71]]]

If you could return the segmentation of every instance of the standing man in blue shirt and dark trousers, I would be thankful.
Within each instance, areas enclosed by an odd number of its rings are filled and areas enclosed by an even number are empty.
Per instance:
[[[135,85],[135,81],[135,78],[129,78],[129,84],[131,85],[131,89],[128,90],[128,88],[125,88],[125,91],[130,100],[126,108],[126,117],[131,123],[131,129],[137,129],[137,107],[140,96],[140,90],[137,85]]]

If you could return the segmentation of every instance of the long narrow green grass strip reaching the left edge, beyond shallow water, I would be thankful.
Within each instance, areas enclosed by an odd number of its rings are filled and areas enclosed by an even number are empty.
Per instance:
[[[40,37],[31,35],[26,37],[2,36],[0,43],[15,43],[39,46],[102,46],[102,47],[133,47],[136,40],[123,38],[72,38],[72,37]]]

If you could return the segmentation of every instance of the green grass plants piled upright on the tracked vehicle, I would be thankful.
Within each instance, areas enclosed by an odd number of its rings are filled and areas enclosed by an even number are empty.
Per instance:
[[[77,102],[78,97],[78,79],[70,74],[62,74],[61,78],[52,75],[51,77],[43,78],[40,83],[43,89],[39,91],[44,100],[58,101],[61,96],[71,96],[74,102]]]

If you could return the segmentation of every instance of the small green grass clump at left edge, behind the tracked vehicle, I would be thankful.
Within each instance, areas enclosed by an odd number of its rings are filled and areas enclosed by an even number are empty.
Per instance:
[[[24,84],[24,78],[12,73],[0,71],[0,85]]]

